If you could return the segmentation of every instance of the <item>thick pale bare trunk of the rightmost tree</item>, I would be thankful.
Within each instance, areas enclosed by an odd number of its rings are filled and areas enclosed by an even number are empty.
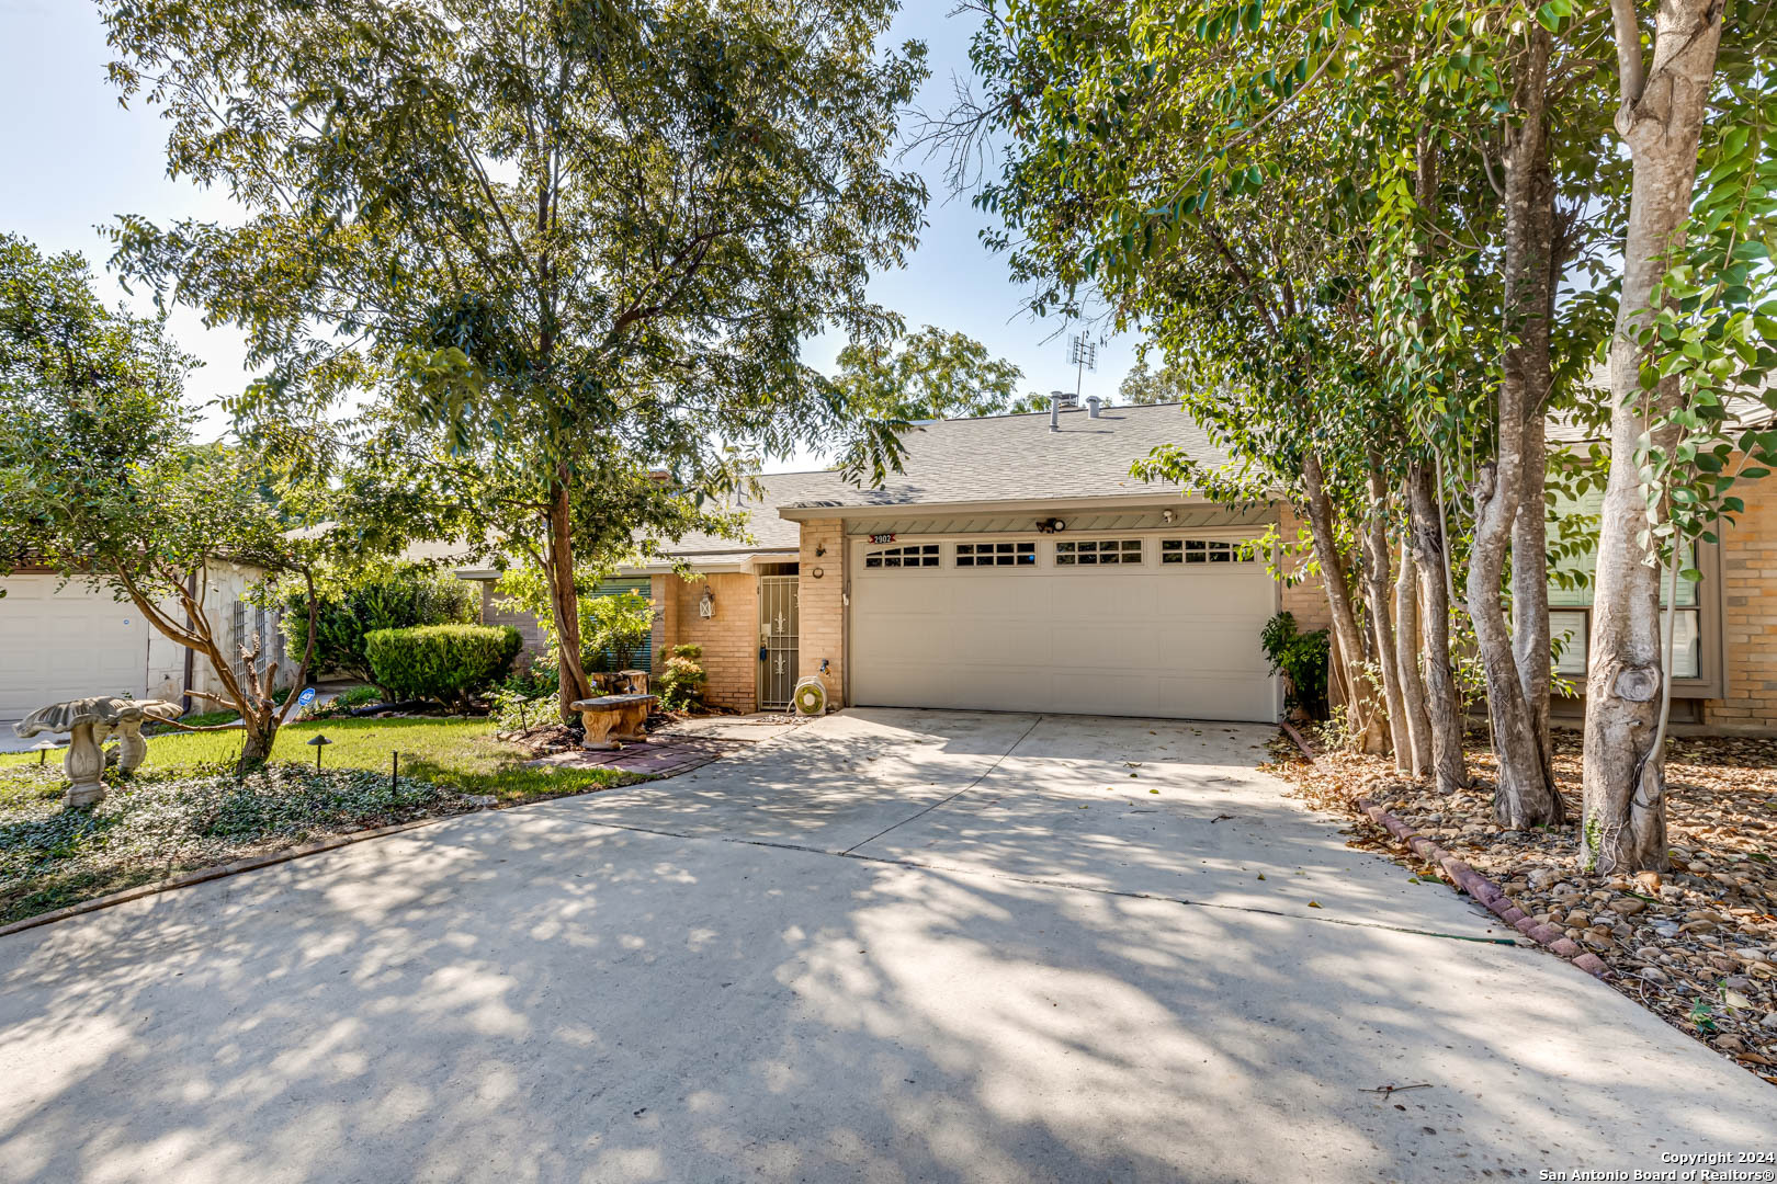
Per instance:
[[[1631,0],[1612,0],[1633,188],[1622,247],[1622,295],[1610,343],[1610,479],[1598,540],[1592,639],[1585,680],[1585,822],[1582,866],[1598,872],[1663,868],[1665,753],[1658,744],[1663,662],[1660,563],[1640,543],[1647,529],[1637,458],[1647,422],[1672,408],[1677,380],[1640,391],[1637,332],[1651,316],[1667,252],[1683,241],[1697,179],[1697,147],[1722,39],[1717,0],[1663,0],[1646,66]],[[1658,433],[1654,446],[1669,446]]]

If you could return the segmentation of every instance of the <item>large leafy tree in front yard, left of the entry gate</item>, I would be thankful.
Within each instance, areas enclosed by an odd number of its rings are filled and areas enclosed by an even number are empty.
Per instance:
[[[730,446],[897,462],[894,424],[860,424],[801,360],[826,327],[896,328],[865,280],[915,241],[924,186],[881,160],[926,69],[917,43],[876,51],[887,0],[105,14],[119,91],[165,107],[172,172],[249,208],[126,218],[119,264],[247,330],[268,376],[243,417],[371,385],[384,456],[418,435],[469,517],[522,522],[499,541],[549,573],[563,706],[588,691],[576,527],[604,485],[622,506],[668,469],[695,497],[745,472]]]

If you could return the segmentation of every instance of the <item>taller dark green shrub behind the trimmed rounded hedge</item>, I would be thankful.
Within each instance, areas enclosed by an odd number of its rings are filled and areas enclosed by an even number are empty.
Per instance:
[[[416,625],[473,625],[482,611],[474,584],[421,564],[373,564],[323,580],[315,614],[315,671],[336,671],[379,682],[364,650],[364,635],[379,628]],[[299,584],[279,589],[283,630],[291,655],[309,643],[307,591]],[[382,685],[382,683],[379,683]],[[394,694],[394,687],[382,685]]]

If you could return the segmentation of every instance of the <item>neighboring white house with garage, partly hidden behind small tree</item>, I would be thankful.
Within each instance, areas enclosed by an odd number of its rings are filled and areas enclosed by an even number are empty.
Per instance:
[[[254,634],[267,639],[265,660],[279,662],[279,685],[295,671],[284,659],[277,614],[247,604],[258,568],[217,561],[206,579],[206,612],[222,632],[224,653]],[[160,632],[128,600],[87,580],[66,584],[44,568],[0,577],[0,721],[21,719],[48,703],[94,694],[178,701],[185,689],[222,694],[210,662]],[[167,611],[178,616],[176,605]],[[217,705],[194,699],[190,710]]]

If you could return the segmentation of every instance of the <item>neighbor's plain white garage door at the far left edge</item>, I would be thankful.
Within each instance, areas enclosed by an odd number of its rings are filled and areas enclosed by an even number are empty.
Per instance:
[[[116,604],[53,575],[0,580],[0,719],[21,719],[46,703],[89,694],[144,692],[147,621],[133,604]]]

